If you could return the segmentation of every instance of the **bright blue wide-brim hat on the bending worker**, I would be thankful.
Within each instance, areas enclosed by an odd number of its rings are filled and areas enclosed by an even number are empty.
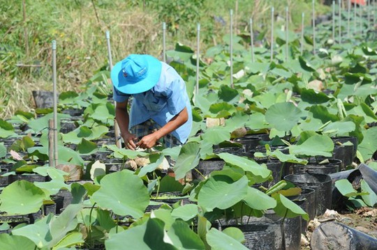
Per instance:
[[[112,68],[112,84],[126,94],[149,91],[160,79],[161,68],[161,61],[153,56],[131,54]]]

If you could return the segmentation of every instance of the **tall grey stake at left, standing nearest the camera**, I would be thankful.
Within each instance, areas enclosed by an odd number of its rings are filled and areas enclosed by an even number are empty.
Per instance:
[[[52,41],[52,84],[54,94],[54,165],[58,164],[58,136],[57,136],[57,42]]]

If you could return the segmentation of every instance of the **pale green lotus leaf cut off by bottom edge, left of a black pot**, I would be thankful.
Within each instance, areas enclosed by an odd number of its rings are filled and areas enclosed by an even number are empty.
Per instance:
[[[212,249],[216,250],[242,250],[247,249],[243,244],[239,243],[234,238],[226,233],[222,233],[216,228],[211,228],[207,233],[207,242]]]

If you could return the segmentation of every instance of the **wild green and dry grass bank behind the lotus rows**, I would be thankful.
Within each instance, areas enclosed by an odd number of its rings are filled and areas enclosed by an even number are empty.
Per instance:
[[[17,109],[33,109],[31,91],[52,90],[52,40],[57,40],[59,91],[80,91],[97,70],[108,67],[106,30],[113,62],[131,53],[161,58],[162,22],[167,24],[168,49],[177,41],[194,47],[200,22],[205,50],[229,31],[230,9],[235,33],[247,35],[253,17],[255,31],[268,36],[270,6],[275,7],[276,26],[285,6],[290,8],[291,29],[300,26],[302,11],[310,25],[311,0],[0,0],[1,118]],[[317,6],[318,15],[327,11]]]

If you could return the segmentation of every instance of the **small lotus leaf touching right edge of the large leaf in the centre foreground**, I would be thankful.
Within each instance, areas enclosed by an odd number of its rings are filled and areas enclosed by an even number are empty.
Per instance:
[[[276,201],[274,198],[271,198],[267,194],[253,187],[248,187],[244,201],[250,208],[256,210],[267,210],[276,207]]]

